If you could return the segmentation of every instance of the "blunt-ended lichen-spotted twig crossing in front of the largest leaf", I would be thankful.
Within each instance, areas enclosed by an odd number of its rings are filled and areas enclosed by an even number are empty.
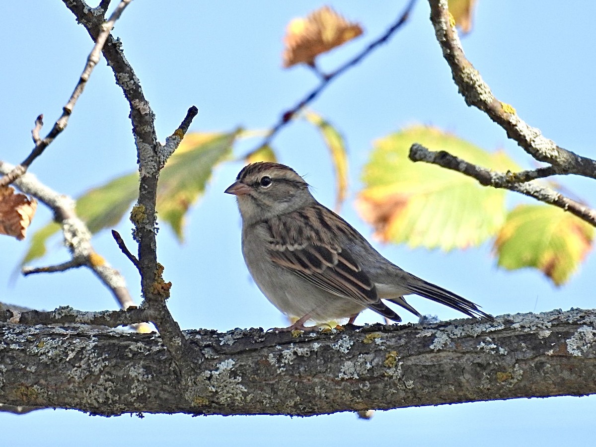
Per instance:
[[[585,206],[585,204],[565,197],[563,194],[557,193],[557,191],[551,190],[550,188],[541,187],[527,182],[512,182],[512,178],[515,180],[516,176],[520,174],[523,175],[523,172],[517,174],[513,173],[511,175],[510,173],[495,172],[491,169],[486,169],[485,167],[468,163],[465,160],[455,157],[446,151],[429,151],[426,147],[418,143],[414,143],[410,147],[409,159],[412,160],[412,162],[437,164],[438,166],[461,172],[462,174],[475,178],[481,185],[484,186],[505,188],[510,191],[516,191],[517,193],[528,195],[529,197],[533,197],[536,200],[557,206],[565,211],[569,211],[583,221],[588,222],[588,224],[596,226],[596,210]]]

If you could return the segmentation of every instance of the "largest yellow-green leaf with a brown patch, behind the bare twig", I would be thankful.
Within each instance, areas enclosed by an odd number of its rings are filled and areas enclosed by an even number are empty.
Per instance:
[[[505,221],[505,190],[482,187],[439,166],[412,163],[408,153],[414,142],[491,169],[518,170],[505,154],[488,153],[434,128],[414,126],[380,139],[364,168],[365,187],[357,203],[375,235],[443,250],[477,246],[495,235]]]

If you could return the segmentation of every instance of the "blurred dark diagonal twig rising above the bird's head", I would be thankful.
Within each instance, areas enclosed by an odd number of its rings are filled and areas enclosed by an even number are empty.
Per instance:
[[[399,28],[401,28],[402,25],[408,20],[409,14],[411,13],[412,8],[414,8],[415,3],[416,0],[410,0],[405,10],[402,12],[401,15],[399,15],[398,20],[396,20],[395,23],[393,23],[392,26],[390,26],[389,29],[387,29],[387,31],[382,36],[380,36],[380,38],[371,42],[371,44],[368,45],[365,49],[363,49],[359,54],[357,54],[351,60],[344,63],[341,67],[339,67],[339,69],[335,70],[333,73],[330,73],[328,75],[322,75],[320,72],[316,70],[316,67],[313,67],[313,69],[315,69],[315,72],[321,79],[319,85],[316,86],[315,89],[313,89],[307,95],[305,95],[305,97],[303,97],[302,100],[300,100],[296,105],[294,105],[294,107],[284,111],[284,113],[281,114],[280,120],[278,120],[278,122],[271,128],[271,131],[268,132],[268,135],[263,139],[263,141],[260,142],[260,144],[256,148],[254,148],[254,150],[250,151],[244,158],[256,152],[263,146],[270,144],[275,135],[277,135],[277,133],[281,131],[281,129],[284,128],[284,126],[286,126],[288,122],[290,122],[294,115],[296,115],[303,107],[311,103],[316,97],[318,97],[318,95],[321,94],[321,92],[325,88],[327,88],[327,86],[331,83],[332,80],[342,75],[344,72],[346,72],[346,70],[349,70],[350,68],[360,63],[365,57],[370,55],[374,51],[374,49],[377,48],[377,46],[385,44],[387,41],[389,41],[389,38],[393,36],[393,34]]]

